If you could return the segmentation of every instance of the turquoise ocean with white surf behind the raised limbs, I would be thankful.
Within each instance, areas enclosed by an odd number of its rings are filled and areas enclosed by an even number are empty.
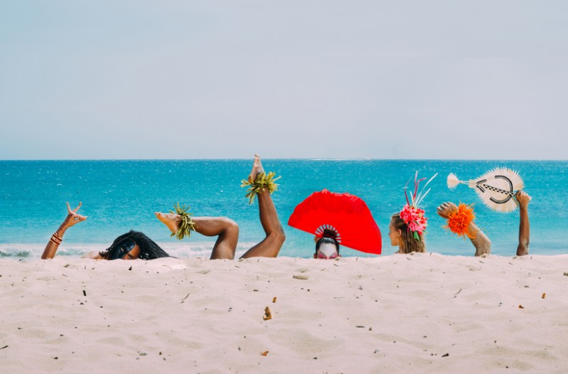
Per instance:
[[[182,241],[155,219],[173,204],[190,205],[195,215],[222,215],[239,223],[237,252],[262,240],[258,205],[249,205],[240,187],[252,160],[120,160],[120,161],[0,161],[0,255],[38,258],[51,234],[72,208],[82,201],[89,218],[67,230],[58,255],[77,256],[104,250],[115,237],[133,229],[143,231],[176,257],[208,257],[214,240],[195,233]],[[444,201],[475,203],[476,223],[493,242],[493,254],[514,255],[518,243],[518,210],[496,213],[486,208],[474,190],[460,185],[450,191],[449,173],[461,180],[483,175],[496,167],[516,170],[532,196],[530,253],[568,253],[568,161],[439,161],[439,160],[327,160],[264,159],[264,169],[282,178],[273,194],[287,236],[280,255],[311,257],[312,235],[290,228],[295,205],[314,191],[327,188],[364,199],[383,235],[383,256],[396,248],[388,240],[391,214],[405,204],[403,187],[419,177],[438,173],[423,208],[429,218],[427,250],[444,255],[474,253],[469,240],[443,228],[435,210]],[[342,248],[343,256],[372,256]]]

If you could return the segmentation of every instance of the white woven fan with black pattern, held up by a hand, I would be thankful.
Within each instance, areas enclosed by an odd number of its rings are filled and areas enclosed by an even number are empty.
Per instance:
[[[481,201],[488,208],[502,213],[509,213],[517,208],[515,193],[525,187],[523,178],[516,171],[508,168],[496,168],[469,181],[460,181],[454,173],[451,173],[448,176],[447,183],[448,188],[452,190],[459,183],[474,188]]]

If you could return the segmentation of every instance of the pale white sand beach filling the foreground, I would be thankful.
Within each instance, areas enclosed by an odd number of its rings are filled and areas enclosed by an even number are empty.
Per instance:
[[[0,260],[0,371],[563,373],[564,272],[568,255]]]

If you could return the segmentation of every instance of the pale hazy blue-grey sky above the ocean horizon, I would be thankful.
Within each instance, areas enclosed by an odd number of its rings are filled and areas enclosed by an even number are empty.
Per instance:
[[[0,159],[568,159],[567,1],[1,1]]]

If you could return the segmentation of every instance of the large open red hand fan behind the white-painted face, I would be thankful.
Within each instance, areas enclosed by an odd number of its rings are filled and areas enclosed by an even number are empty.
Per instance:
[[[325,229],[333,230],[339,244],[381,255],[381,230],[367,204],[350,193],[312,193],[296,206],[288,225],[320,237]]]

